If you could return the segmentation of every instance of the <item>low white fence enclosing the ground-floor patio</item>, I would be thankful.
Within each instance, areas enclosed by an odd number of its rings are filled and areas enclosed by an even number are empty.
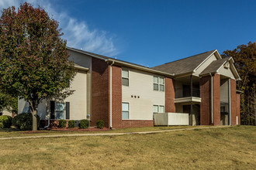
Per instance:
[[[154,114],[154,125],[189,125],[189,114],[187,113],[161,113]]]

